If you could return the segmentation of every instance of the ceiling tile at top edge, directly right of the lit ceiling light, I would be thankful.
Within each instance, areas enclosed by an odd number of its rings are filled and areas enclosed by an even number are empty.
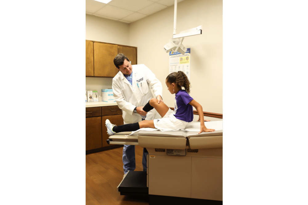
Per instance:
[[[131,11],[138,11],[140,9],[143,9],[144,7],[147,7],[154,2],[149,0],[112,0],[108,5],[116,6],[122,9],[127,9]]]

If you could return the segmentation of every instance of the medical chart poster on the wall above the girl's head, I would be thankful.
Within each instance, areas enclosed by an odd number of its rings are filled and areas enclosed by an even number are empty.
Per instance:
[[[190,48],[182,55],[180,52],[169,52],[169,74],[183,71],[190,81]]]

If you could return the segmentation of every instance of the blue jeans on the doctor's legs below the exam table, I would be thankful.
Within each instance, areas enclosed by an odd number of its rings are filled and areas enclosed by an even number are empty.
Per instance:
[[[144,150],[145,148],[143,148],[142,166],[143,166],[143,171],[147,171],[148,153],[147,152],[145,153]],[[128,171],[134,171],[136,169],[135,145],[124,144],[122,160],[123,160],[124,174],[126,174]]]

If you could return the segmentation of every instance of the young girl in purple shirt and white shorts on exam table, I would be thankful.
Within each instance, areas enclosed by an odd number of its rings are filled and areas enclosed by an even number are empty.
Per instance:
[[[142,120],[140,122],[116,126],[106,120],[107,133],[109,136],[117,132],[136,131],[140,128],[157,128],[160,130],[179,130],[185,129],[186,124],[193,121],[193,107],[197,109],[200,119],[201,132],[214,132],[215,129],[208,129],[204,125],[202,106],[197,103],[190,95],[189,80],[182,71],[170,73],[166,78],[166,85],[171,94],[175,94],[175,107],[172,111],[166,104],[160,101],[158,104],[156,98],[152,98],[144,107],[145,112],[153,108],[160,114],[161,119]],[[185,88],[185,90],[182,89]],[[199,121],[199,120],[198,120]],[[209,120],[206,120],[209,121]]]

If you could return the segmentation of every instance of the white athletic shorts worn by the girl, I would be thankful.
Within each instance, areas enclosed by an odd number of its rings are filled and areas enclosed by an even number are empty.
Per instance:
[[[159,130],[179,130],[185,129],[188,122],[179,120],[173,115],[173,111],[169,108],[168,112],[161,119],[155,119],[154,126]]]

